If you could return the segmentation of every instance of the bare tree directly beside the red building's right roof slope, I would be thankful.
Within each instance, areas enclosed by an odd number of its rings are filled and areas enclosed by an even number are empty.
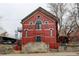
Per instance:
[[[65,6],[66,6],[66,4],[63,4],[63,3],[50,3],[49,4],[49,8],[50,8],[51,12],[59,18],[58,23],[59,23],[59,26],[60,26],[60,31],[61,31],[61,28],[62,28],[63,16],[64,16],[64,14],[66,13],[66,10],[67,10],[65,8]]]

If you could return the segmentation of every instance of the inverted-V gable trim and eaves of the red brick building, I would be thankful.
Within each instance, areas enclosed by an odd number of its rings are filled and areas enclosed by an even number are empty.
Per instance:
[[[33,11],[31,14],[29,14],[27,17],[25,17],[21,23],[23,23],[24,21],[27,21],[29,17],[32,17],[33,14],[37,13],[37,12],[41,12],[45,15],[47,15],[48,17],[52,18],[54,21],[57,22],[57,17],[52,15],[51,13],[49,13],[48,11],[44,10],[43,8],[39,7],[38,9],[36,9],[35,11]]]

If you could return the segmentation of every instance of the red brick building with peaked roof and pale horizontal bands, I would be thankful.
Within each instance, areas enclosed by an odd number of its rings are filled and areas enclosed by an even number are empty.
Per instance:
[[[39,7],[22,20],[22,44],[44,42],[57,48],[57,17]]]

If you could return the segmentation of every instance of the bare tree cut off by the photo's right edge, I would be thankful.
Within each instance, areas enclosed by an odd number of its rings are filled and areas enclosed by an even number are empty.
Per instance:
[[[71,32],[74,30],[75,30],[74,32],[77,32],[79,30],[79,24],[78,24],[78,21],[79,21],[79,4],[75,3],[74,7],[70,10],[69,13],[70,13],[70,16],[72,17],[72,20],[73,20],[72,25],[74,25],[71,27]]]

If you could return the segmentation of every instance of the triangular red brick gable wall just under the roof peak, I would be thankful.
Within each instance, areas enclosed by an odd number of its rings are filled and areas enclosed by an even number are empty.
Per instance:
[[[29,16],[29,18],[25,19],[23,21],[23,24],[35,24],[38,21],[38,16],[40,16],[40,22],[42,22],[43,24],[45,24],[45,22],[47,21],[48,23],[52,23],[55,24],[56,21],[50,17],[48,17],[46,14],[37,11],[34,14],[32,14],[31,16]]]

